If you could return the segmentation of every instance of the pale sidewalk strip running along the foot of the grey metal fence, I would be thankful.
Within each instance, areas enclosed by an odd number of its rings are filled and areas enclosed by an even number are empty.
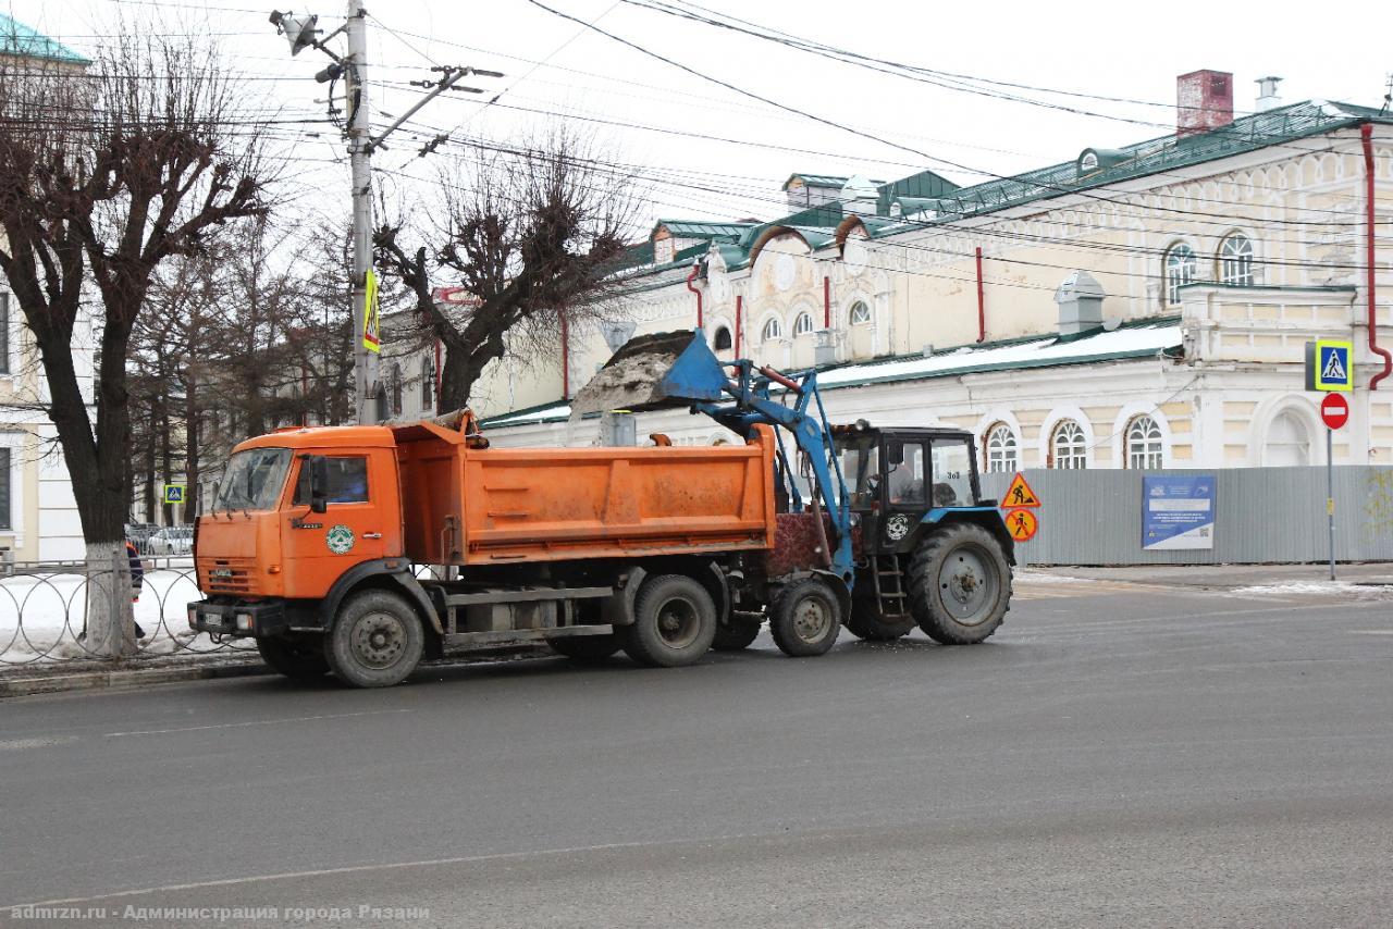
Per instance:
[[[1275,584],[1329,582],[1329,564],[1133,564],[1126,567],[1029,565],[1029,572],[1053,574],[1094,581],[1130,581],[1133,584],[1170,584],[1212,591]],[[1340,584],[1393,585],[1393,563],[1336,564]]]

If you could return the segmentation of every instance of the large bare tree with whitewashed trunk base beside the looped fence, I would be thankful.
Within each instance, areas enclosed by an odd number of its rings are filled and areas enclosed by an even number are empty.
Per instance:
[[[135,646],[121,570],[131,330],[162,262],[267,208],[244,97],[212,47],[128,28],[86,74],[0,63],[0,270],[42,357],[93,571],[88,646],[98,655]],[[74,359],[89,286],[99,304],[95,422]]]

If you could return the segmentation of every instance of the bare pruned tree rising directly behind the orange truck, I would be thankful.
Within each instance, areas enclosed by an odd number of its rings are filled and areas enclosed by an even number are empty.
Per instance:
[[[439,199],[414,210],[428,219],[376,231],[379,266],[414,297],[421,334],[444,345],[437,409],[467,405],[485,368],[504,354],[554,357],[563,315],[579,325],[616,313],[614,270],[637,201],[632,178],[585,148],[559,132],[514,149],[475,149],[442,166]],[[443,283],[462,286],[478,304],[439,306],[432,288]]]

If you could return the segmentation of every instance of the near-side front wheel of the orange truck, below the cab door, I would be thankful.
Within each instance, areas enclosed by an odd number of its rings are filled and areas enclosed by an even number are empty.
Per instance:
[[[325,637],[325,657],[344,684],[391,687],[407,678],[425,650],[415,610],[396,593],[364,591],[348,599]]]

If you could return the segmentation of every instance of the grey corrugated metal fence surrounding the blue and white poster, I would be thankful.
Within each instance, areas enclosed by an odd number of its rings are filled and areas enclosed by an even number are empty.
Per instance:
[[[1039,531],[1017,546],[1028,564],[1263,564],[1329,557],[1326,469],[1213,468],[1024,472],[1039,496]],[[1144,479],[1208,475],[1212,547],[1142,547]],[[982,494],[1003,497],[1010,474],[982,475]],[[1334,557],[1393,560],[1393,468],[1334,468]]]

